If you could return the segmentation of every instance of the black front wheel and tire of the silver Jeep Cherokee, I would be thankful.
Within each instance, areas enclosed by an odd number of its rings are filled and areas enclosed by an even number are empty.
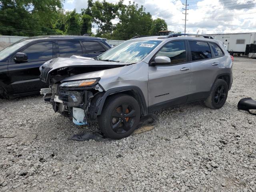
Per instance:
[[[126,94],[109,97],[98,117],[100,130],[106,137],[112,139],[129,136],[138,126],[139,121],[140,106],[132,96]]]

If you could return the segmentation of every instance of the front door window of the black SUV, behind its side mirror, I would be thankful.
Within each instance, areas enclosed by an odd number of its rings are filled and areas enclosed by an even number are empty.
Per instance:
[[[52,58],[52,42],[40,42],[29,46],[22,51],[28,56],[28,60]]]

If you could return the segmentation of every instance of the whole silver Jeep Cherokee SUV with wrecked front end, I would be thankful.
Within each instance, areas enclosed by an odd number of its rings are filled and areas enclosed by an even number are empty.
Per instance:
[[[129,136],[156,110],[194,101],[221,108],[232,85],[232,58],[210,36],[132,38],[100,56],[54,58],[41,68],[44,100],[77,125],[97,121],[106,137]]]

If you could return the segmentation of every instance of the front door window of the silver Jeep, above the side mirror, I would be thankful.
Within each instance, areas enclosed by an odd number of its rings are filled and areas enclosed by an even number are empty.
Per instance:
[[[164,45],[156,56],[166,56],[171,59],[171,64],[186,62],[186,46],[184,41],[173,41]]]

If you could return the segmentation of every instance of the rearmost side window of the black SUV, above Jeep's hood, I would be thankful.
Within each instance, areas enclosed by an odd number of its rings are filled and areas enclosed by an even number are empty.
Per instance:
[[[86,49],[86,54],[83,54],[84,57],[94,58],[106,51],[105,48],[96,41],[82,41],[82,44]]]

